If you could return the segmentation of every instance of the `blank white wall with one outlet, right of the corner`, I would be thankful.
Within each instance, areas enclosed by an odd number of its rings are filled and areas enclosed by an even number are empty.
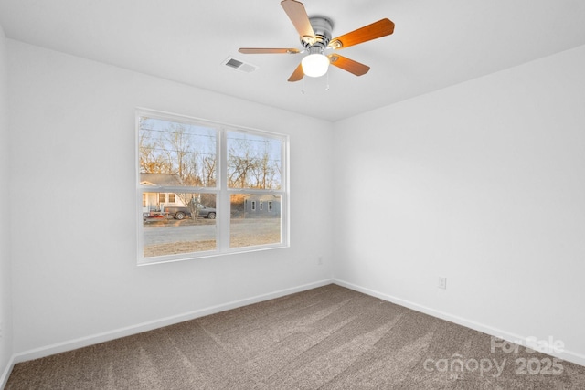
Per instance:
[[[585,364],[583,69],[578,47],[335,123],[335,279]]]

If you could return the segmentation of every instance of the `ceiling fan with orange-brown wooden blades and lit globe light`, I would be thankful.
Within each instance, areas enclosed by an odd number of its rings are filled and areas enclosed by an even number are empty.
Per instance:
[[[301,64],[294,69],[289,81],[299,81],[303,79],[303,75],[309,77],[323,76],[327,72],[329,64],[356,76],[362,76],[369,70],[367,65],[342,57],[332,53],[332,51],[364,43],[378,37],[385,37],[394,32],[394,23],[385,18],[332,39],[333,23],[330,19],[324,16],[307,16],[303,3],[295,0],[282,0],[281,5],[299,33],[304,50],[297,48],[241,47],[239,52],[243,54],[309,53],[303,58]]]

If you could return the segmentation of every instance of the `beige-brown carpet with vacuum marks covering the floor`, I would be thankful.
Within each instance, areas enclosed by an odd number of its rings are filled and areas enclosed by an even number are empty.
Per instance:
[[[329,285],[16,364],[16,389],[585,389],[585,367]]]

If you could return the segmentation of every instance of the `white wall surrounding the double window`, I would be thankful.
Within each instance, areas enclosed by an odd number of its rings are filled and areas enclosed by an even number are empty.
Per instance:
[[[17,361],[330,281],[331,123],[8,43]],[[137,267],[135,107],[289,134],[291,248]]]

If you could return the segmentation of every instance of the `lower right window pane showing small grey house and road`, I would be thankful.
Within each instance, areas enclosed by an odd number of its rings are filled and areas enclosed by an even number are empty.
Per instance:
[[[259,201],[270,201],[271,211],[255,207]],[[280,195],[231,195],[230,211],[229,248],[281,243]]]

